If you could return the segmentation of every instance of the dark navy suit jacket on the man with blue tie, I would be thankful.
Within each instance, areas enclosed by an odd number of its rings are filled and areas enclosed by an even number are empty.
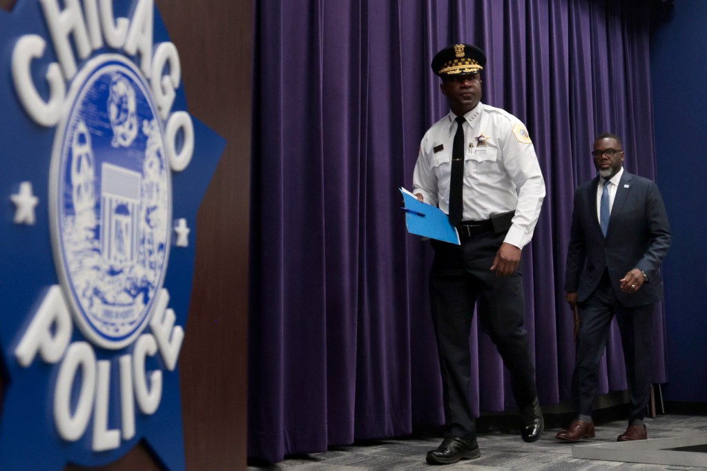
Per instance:
[[[660,264],[670,249],[670,226],[658,186],[624,169],[604,237],[597,219],[599,180],[597,176],[575,190],[565,291],[577,291],[577,301],[585,301],[608,269],[621,304],[655,303],[663,294]],[[619,280],[633,268],[645,272],[648,283],[636,293],[624,293]]]

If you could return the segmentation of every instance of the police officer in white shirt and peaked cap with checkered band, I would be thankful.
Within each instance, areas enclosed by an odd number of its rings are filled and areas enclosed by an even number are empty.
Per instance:
[[[481,103],[485,64],[484,52],[467,44],[434,57],[432,70],[451,112],[423,136],[413,176],[416,197],[445,211],[461,239],[461,245],[432,241],[432,314],[448,436],[427,453],[430,464],[480,455],[469,402],[477,301],[481,329],[510,370],[523,440],[536,441],[544,427],[523,328],[520,254],[532,238],[545,185],[522,122]]]

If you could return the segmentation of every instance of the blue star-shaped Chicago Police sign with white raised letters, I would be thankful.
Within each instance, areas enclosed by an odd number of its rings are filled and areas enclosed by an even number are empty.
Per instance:
[[[193,228],[224,143],[153,0],[21,0],[0,59],[0,469],[141,440],[182,469]]]

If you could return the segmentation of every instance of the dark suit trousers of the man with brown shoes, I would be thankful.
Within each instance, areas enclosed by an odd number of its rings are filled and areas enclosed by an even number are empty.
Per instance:
[[[643,420],[648,405],[651,377],[653,304],[627,308],[619,303],[604,272],[597,289],[579,303],[580,328],[577,335],[575,371],[572,385],[577,411],[591,415],[599,382],[599,364],[609,337],[609,327],[616,315],[626,363],[629,386],[629,424]]]

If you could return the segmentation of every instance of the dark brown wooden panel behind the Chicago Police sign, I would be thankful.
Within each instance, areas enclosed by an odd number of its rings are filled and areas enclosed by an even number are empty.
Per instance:
[[[15,3],[0,0],[0,8],[9,11]],[[247,453],[252,0],[156,4],[180,53],[189,112],[228,141],[197,220],[194,289],[180,356],[187,469],[242,470]],[[137,446],[101,469],[159,468],[146,448]]]

